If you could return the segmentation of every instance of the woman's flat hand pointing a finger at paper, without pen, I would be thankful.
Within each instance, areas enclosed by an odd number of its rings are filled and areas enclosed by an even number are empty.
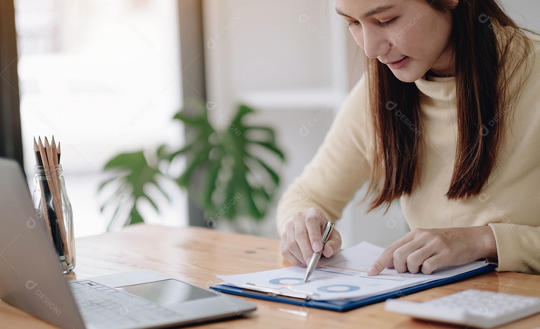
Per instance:
[[[497,259],[495,236],[489,226],[414,229],[388,246],[367,271],[384,268],[431,274],[442,266],[462,265],[480,258]]]

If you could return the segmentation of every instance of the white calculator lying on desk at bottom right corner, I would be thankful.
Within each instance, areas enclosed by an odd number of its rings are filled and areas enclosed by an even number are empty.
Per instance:
[[[540,298],[469,289],[424,303],[388,299],[384,309],[417,319],[492,328],[540,312]]]

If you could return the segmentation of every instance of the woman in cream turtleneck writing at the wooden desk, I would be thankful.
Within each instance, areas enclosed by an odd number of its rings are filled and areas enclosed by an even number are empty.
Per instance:
[[[495,0],[336,0],[336,11],[368,69],[279,202],[283,256],[306,266],[369,182],[369,210],[400,198],[412,230],[368,275],[481,258],[540,273],[540,37]],[[323,255],[340,247],[334,230]]]

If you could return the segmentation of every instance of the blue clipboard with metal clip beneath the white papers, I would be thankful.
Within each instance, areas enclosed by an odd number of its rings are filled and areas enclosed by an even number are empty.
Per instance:
[[[476,277],[480,274],[491,272],[495,270],[496,267],[496,264],[488,264],[484,267],[477,268],[476,270],[458,274],[457,276],[430,281],[413,287],[403,288],[401,290],[388,292],[378,296],[368,297],[359,300],[317,300],[316,298],[309,296],[309,294],[302,294],[302,292],[296,292],[295,294],[294,291],[291,291],[292,293],[287,292],[286,294],[284,294],[281,291],[273,291],[272,287],[257,286],[252,284],[245,284],[244,287],[237,287],[227,284],[217,284],[211,286],[210,288],[215,291],[230,293],[238,296],[278,301],[279,303],[286,303],[298,306],[321,308],[322,310],[347,312],[362,306],[379,303],[390,298],[397,298],[401,297],[402,295],[407,295],[429,288],[434,288],[454,283],[456,281]]]

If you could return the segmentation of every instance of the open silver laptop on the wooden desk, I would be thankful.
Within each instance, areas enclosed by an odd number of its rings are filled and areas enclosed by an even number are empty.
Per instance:
[[[0,159],[0,299],[65,329],[143,329],[237,317],[256,306],[151,270],[68,281],[19,165]]]

